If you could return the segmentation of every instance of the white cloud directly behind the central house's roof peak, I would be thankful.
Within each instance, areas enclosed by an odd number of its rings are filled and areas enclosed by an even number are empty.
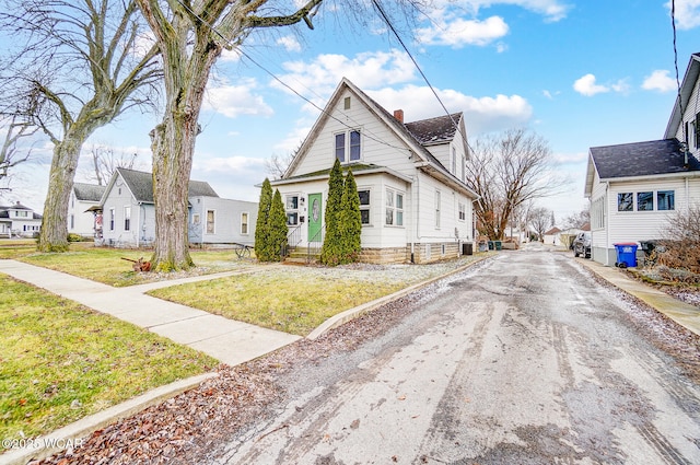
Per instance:
[[[358,54],[353,58],[345,55],[319,55],[313,61],[288,61],[282,65],[288,71],[280,79],[296,92],[312,97],[323,107],[326,100],[345,77],[360,89],[409,82],[416,78],[416,68],[408,55],[399,51]],[[271,85],[290,92],[276,81]]]

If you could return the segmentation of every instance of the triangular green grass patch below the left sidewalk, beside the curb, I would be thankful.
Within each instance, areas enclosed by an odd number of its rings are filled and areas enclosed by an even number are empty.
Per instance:
[[[4,275],[0,288],[0,438],[48,433],[218,364]]]

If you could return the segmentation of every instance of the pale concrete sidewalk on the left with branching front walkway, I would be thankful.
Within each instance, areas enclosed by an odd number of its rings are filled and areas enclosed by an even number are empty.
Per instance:
[[[127,288],[113,288],[16,260],[0,260],[0,272],[147,328],[230,365],[253,360],[301,338],[144,294],[151,289],[217,279],[246,270]]]

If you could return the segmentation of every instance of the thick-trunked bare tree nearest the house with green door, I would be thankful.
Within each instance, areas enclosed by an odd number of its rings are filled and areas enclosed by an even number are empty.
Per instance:
[[[312,19],[323,0],[137,0],[162,51],[165,112],[151,131],[158,271],[192,265],[187,247],[187,181],[199,132],[205,88],[223,48],[235,48],[256,30],[292,26]],[[395,0],[415,7],[421,0]],[[361,2],[343,2],[357,12]]]

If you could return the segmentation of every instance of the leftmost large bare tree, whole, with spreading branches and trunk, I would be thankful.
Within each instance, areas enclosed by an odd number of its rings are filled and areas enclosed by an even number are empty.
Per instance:
[[[93,131],[148,104],[162,75],[135,0],[3,0],[0,26],[19,37],[0,67],[0,113],[20,115],[54,144],[38,248],[68,248],[68,201]]]

